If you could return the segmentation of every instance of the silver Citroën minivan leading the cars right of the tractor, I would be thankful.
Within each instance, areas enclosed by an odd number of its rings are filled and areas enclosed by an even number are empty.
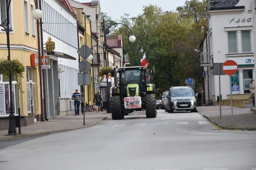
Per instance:
[[[171,87],[166,95],[166,111],[184,110],[197,112],[197,101],[193,89],[190,86]]]

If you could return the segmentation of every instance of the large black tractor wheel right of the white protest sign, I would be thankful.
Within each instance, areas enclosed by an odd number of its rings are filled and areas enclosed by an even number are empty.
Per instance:
[[[152,118],[157,116],[155,94],[146,94],[146,116],[147,118]]]

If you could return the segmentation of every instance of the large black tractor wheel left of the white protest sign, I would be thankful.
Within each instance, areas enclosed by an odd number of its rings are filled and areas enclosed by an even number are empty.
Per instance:
[[[122,119],[120,96],[111,97],[111,110],[113,120]]]

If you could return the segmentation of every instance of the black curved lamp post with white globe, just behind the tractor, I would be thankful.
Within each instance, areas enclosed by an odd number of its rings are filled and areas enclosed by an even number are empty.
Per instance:
[[[117,25],[117,24],[122,24],[124,26],[126,26],[130,32],[131,32],[131,36],[129,37],[129,41],[130,42],[135,42],[136,40],[136,37],[133,35],[132,33],[132,30],[126,25],[126,24],[123,24],[123,23],[114,23],[110,26],[108,26],[108,28],[105,27],[105,21],[103,19],[103,33],[104,33],[104,44],[103,44],[103,47],[105,48],[105,51],[107,50],[108,48],[108,45],[107,45],[107,37],[106,37],[106,33],[109,32],[109,28],[112,27],[113,25]],[[105,59],[105,66],[107,67],[108,66],[108,59],[107,59],[107,55],[106,53],[104,53],[104,59]],[[123,61],[124,63],[124,61]],[[110,102],[110,96],[109,96],[109,85],[108,85],[108,74],[106,74],[107,76],[107,102],[108,102],[108,107],[107,107],[107,113],[111,113],[111,102]]]

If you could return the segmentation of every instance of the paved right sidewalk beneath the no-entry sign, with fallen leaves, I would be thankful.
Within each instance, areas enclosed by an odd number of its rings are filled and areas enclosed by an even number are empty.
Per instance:
[[[216,123],[219,127],[227,130],[249,130],[256,131],[256,114],[252,103],[245,103],[245,108],[233,107],[233,126],[231,106],[197,106],[197,111],[203,117]]]

